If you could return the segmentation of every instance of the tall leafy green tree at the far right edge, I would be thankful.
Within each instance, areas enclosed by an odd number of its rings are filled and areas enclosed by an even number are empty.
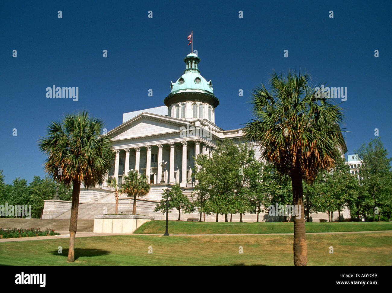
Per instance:
[[[356,200],[358,220],[359,214],[363,214],[366,220],[380,220],[380,215],[389,220],[392,216],[392,158],[387,157],[388,151],[380,137],[372,139],[367,145],[362,144],[357,153],[361,160],[361,186]]]

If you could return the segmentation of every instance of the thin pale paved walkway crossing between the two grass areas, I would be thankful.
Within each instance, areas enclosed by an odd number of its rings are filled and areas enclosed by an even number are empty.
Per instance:
[[[306,234],[352,234],[352,233],[381,233],[392,232],[392,230],[383,231],[348,231],[348,232],[313,232]],[[11,241],[29,241],[29,240],[49,240],[69,238],[69,231],[58,231],[61,235],[56,236],[36,236],[36,237],[20,237],[20,238],[5,238],[0,239],[1,242]],[[130,234],[130,233],[93,233],[80,232],[76,233],[75,237],[92,237],[92,236],[114,236],[114,235],[144,235],[144,236],[163,236],[163,234]],[[260,236],[260,235],[294,235],[294,233],[265,233],[265,234],[170,234],[170,236]]]

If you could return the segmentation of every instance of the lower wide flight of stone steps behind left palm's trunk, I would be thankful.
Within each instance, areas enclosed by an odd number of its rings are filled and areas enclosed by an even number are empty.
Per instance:
[[[41,230],[53,229],[54,231],[69,231],[68,219],[20,219],[20,218],[0,218],[0,228],[2,229],[29,229],[40,228]],[[94,219],[79,219],[79,232],[93,232]]]

